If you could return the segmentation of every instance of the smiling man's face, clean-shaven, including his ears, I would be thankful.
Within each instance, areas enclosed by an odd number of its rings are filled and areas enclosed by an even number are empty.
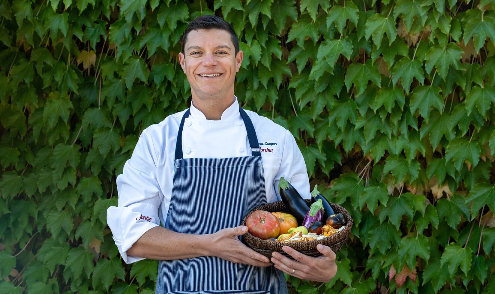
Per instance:
[[[242,60],[243,52],[235,54],[230,34],[218,29],[191,31],[184,53],[179,53],[193,98],[233,98]]]

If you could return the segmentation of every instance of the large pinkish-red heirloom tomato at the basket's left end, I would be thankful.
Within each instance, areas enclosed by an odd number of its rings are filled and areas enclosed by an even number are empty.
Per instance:
[[[256,210],[247,217],[249,234],[259,239],[277,238],[280,232],[278,218],[265,210]]]

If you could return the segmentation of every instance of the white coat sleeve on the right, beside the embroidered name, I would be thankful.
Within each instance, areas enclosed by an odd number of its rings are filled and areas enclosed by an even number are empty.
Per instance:
[[[274,188],[279,198],[278,185],[281,177],[284,177],[284,179],[289,181],[301,197],[306,199],[311,198],[306,163],[304,162],[304,157],[297,146],[294,136],[289,131],[286,131],[282,161],[274,179]]]

